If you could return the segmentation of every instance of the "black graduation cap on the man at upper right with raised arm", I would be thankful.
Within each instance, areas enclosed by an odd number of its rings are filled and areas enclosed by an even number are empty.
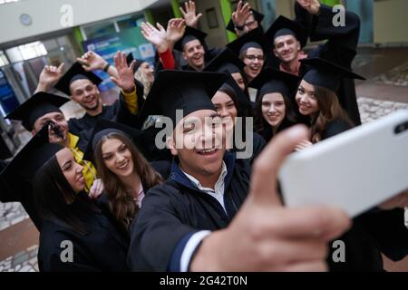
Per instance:
[[[265,43],[268,47],[275,47],[275,39],[283,35],[295,36],[301,47],[304,47],[307,43],[307,32],[295,21],[288,19],[285,16],[280,15],[277,20],[267,29],[265,33]]]

